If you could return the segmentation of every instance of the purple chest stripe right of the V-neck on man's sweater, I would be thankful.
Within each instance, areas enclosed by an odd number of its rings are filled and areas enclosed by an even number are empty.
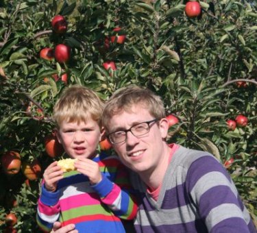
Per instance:
[[[162,209],[173,209],[180,206],[186,206],[190,200],[186,193],[184,184],[180,184],[166,191],[162,202]]]

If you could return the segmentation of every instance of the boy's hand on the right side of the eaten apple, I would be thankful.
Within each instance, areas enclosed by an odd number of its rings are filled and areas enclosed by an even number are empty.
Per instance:
[[[80,173],[88,176],[90,184],[94,185],[101,181],[101,172],[97,162],[88,158],[77,158],[77,161],[74,162],[74,167]]]

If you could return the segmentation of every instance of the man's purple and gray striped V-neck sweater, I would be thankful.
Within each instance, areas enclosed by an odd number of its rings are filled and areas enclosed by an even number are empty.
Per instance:
[[[211,154],[179,147],[155,201],[140,177],[136,232],[256,232],[230,175]]]

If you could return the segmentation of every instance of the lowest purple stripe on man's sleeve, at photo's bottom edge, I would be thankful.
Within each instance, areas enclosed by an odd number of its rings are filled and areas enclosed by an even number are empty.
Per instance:
[[[243,232],[256,233],[256,231],[249,231],[249,228],[245,224],[245,221],[243,221],[243,219],[240,219],[240,218],[225,219],[220,223],[216,224],[212,228],[212,230],[210,230],[210,233],[231,232],[232,229],[233,229],[233,233],[243,233]]]

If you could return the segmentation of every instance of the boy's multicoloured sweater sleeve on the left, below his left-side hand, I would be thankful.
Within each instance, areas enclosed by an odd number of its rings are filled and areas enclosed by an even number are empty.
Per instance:
[[[59,198],[60,191],[49,192],[42,184],[41,195],[38,199],[36,222],[44,232],[51,232],[53,223],[58,221],[60,215]]]

